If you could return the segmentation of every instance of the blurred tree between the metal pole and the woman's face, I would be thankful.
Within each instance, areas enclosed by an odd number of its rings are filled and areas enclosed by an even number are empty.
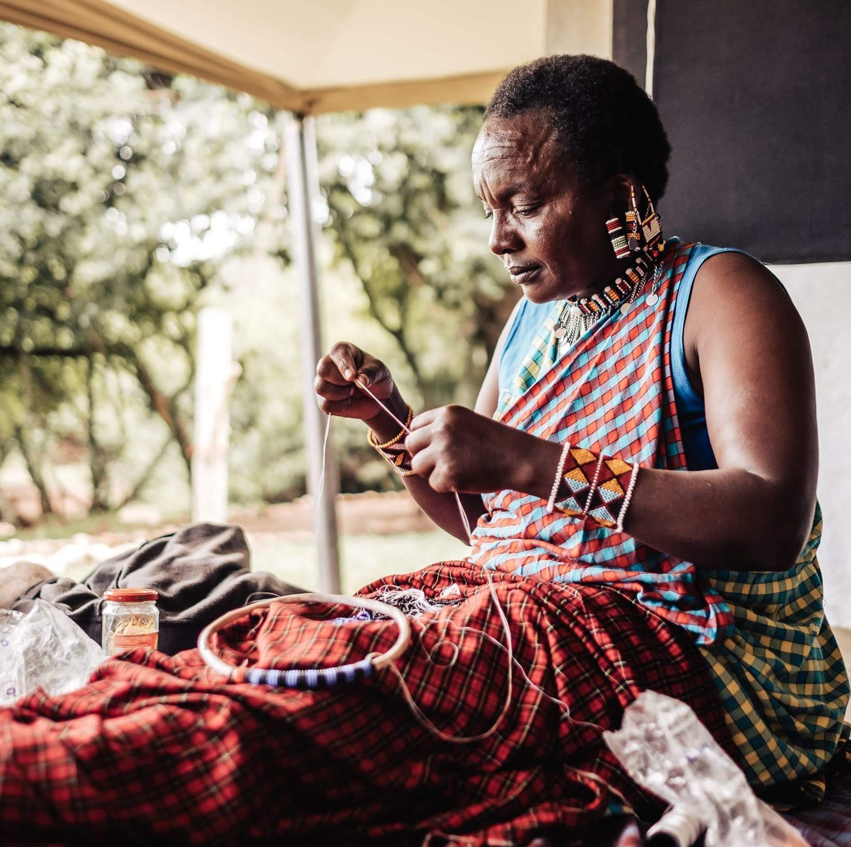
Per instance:
[[[319,123],[336,260],[356,273],[426,406],[475,400],[517,297],[497,282],[472,188],[482,112],[424,106]]]

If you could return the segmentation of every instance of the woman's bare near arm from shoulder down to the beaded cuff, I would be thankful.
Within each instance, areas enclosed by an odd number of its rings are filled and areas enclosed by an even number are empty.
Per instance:
[[[708,566],[786,569],[807,541],[819,448],[806,329],[750,257],[701,266],[684,344],[718,470],[638,475],[625,529]]]

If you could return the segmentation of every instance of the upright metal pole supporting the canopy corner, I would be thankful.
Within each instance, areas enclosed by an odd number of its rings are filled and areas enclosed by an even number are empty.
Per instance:
[[[326,416],[319,410],[313,388],[317,362],[323,355],[319,328],[317,290],[316,226],[312,218],[312,199],[319,193],[317,180],[316,135],[313,118],[294,116],[287,124],[287,183],[289,220],[293,232],[295,265],[301,291],[301,364],[304,381],[305,442],[307,450],[307,490],[316,506],[319,560],[319,588],[340,593],[340,552],[337,547],[337,515],[334,495],[339,488],[333,453],[328,454],[323,478],[323,438]],[[323,488],[322,495],[319,489]]]

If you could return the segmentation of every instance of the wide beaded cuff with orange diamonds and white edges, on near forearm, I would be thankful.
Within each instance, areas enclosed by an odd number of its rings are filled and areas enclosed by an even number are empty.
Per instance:
[[[556,508],[598,526],[623,529],[637,465],[581,447],[568,450],[556,492]]]

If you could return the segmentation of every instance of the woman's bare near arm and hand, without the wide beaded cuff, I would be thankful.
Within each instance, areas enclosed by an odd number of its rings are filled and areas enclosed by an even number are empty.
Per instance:
[[[756,261],[706,260],[686,322],[718,470],[643,468],[625,529],[705,567],[787,569],[807,539],[818,447],[806,331]],[[414,469],[439,490],[512,488],[546,499],[561,446],[448,406],[414,419]]]

